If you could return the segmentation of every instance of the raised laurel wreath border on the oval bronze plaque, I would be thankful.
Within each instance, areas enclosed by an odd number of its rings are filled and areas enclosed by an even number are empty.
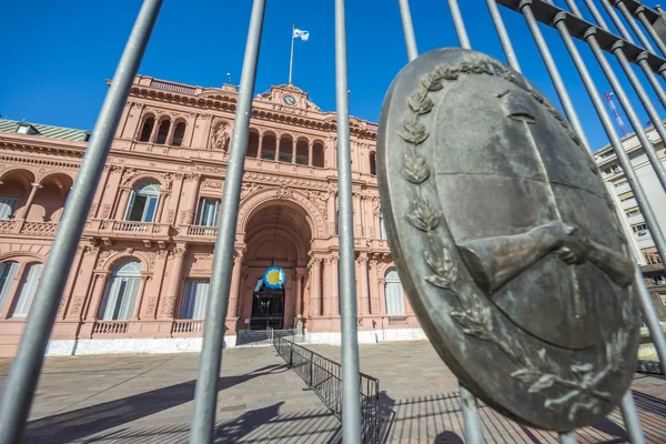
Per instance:
[[[502,352],[516,364],[517,369],[511,376],[525,384],[529,393],[546,392],[544,406],[551,410],[567,410],[567,417],[574,421],[581,410],[598,413],[601,402],[610,402],[610,394],[597,389],[598,384],[609,374],[620,371],[623,367],[623,350],[627,345],[628,332],[620,329],[615,333],[605,350],[605,365],[595,370],[591,363],[571,365],[562,370],[552,360],[545,349],[533,350],[529,345],[516,341],[511,335],[503,334],[504,329],[495,329],[495,320],[491,303],[486,297],[475,292],[458,292],[455,289],[458,268],[451,255],[451,251],[435,236],[435,229],[443,219],[442,212],[436,203],[433,203],[426,194],[424,184],[431,176],[427,160],[418,153],[420,148],[428,139],[428,130],[422,122],[422,117],[430,113],[434,102],[430,94],[444,88],[445,82],[458,80],[464,74],[501,75],[503,79],[519,87],[532,94],[535,100],[546,107],[561,125],[579,144],[579,139],[562,119],[559,113],[541,97],[536,91],[525,84],[512,71],[506,68],[486,61],[476,63],[460,63],[456,68],[438,67],[433,73],[421,79],[417,91],[407,98],[408,117],[403,122],[403,130],[398,132],[401,139],[407,142],[407,150],[403,155],[401,174],[414,186],[414,196],[411,202],[410,212],[405,215],[408,222],[423,232],[428,242],[428,250],[424,253],[424,260],[432,273],[425,280],[440,289],[451,292],[457,302],[457,309],[448,314],[460,324],[462,331],[480,341],[495,344]],[[625,325],[632,321],[629,302],[623,302],[623,316]],[[558,373],[557,370],[561,372]]]

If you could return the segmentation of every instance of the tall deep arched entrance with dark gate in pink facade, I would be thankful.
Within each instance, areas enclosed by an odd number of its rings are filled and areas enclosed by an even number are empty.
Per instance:
[[[275,200],[248,219],[239,301],[241,330],[292,329],[294,319],[303,314],[303,276],[312,241],[306,218],[299,204]],[[284,270],[281,289],[269,289],[261,281],[273,264]]]

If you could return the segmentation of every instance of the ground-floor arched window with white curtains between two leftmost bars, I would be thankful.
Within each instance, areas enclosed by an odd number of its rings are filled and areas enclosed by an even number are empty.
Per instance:
[[[124,260],[113,268],[111,280],[107,284],[104,301],[100,306],[100,320],[128,320],[132,316],[142,268],[141,262],[135,259]]]

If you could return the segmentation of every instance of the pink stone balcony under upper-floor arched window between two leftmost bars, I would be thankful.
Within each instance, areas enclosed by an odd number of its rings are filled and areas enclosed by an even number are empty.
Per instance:
[[[165,242],[170,236],[170,228],[168,223],[91,219],[85,223],[83,235],[100,238],[105,243],[112,239]]]

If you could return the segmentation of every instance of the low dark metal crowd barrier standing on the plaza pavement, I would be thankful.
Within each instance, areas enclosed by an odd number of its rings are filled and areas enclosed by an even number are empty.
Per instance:
[[[342,366],[285,337],[275,337],[273,346],[282,359],[307,384],[322,402],[342,421]],[[361,440],[380,442],[380,380],[359,374]]]

